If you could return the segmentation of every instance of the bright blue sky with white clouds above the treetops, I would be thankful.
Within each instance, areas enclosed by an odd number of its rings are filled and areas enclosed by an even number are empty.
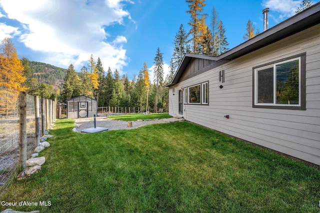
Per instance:
[[[319,0],[313,0],[318,2]],[[269,28],[294,15],[302,0],[206,0],[207,24],[214,6],[231,49],[244,42],[250,19],[263,31],[262,10],[269,7]],[[0,39],[10,37],[19,58],[76,71],[90,55],[104,70],[129,79],[146,62],[149,76],[156,49],[163,53],[165,75],[180,24],[189,30],[185,0],[0,0]]]

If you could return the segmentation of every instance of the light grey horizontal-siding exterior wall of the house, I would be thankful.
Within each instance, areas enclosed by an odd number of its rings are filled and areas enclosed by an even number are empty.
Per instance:
[[[304,52],[306,110],[253,108],[252,68]],[[177,90],[205,81],[209,104],[183,104],[185,120],[320,165],[320,24],[179,81],[169,87],[169,114],[178,114]]]

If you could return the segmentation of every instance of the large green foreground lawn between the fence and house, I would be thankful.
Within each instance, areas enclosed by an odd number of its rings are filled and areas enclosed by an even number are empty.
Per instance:
[[[188,123],[78,134],[58,120],[42,171],[3,207],[41,213],[318,213],[320,170]]]

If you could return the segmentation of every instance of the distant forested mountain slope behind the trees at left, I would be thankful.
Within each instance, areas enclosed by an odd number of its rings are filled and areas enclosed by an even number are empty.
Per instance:
[[[29,61],[31,78],[38,79],[39,84],[46,83],[55,88],[61,88],[66,69],[42,62]]]

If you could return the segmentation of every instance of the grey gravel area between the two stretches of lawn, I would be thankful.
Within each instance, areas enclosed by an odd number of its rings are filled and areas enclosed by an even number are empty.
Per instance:
[[[127,121],[110,120],[105,117],[97,117],[95,119],[96,127],[104,127],[108,130],[120,130],[120,129],[135,129],[150,124],[162,124],[167,122],[182,121],[183,119],[169,118],[169,119],[157,119],[157,120],[143,120],[132,121],[132,127],[127,127]],[[93,118],[78,118],[75,119],[74,131],[80,133],[81,130],[92,128]]]

